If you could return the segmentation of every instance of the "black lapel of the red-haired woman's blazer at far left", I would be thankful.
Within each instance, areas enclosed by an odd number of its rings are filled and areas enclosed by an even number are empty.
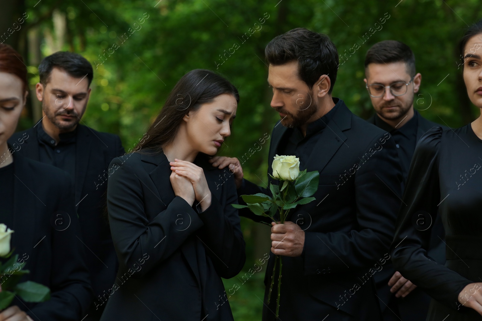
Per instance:
[[[35,195],[35,184],[32,178],[35,173],[31,172],[25,156],[21,154],[13,154],[14,166],[13,173],[13,226],[10,227],[14,233],[12,234],[11,244],[20,250],[31,250],[34,238],[34,226],[37,226],[37,218],[45,205]],[[27,187],[25,184],[28,184]],[[32,200],[30,202],[26,201]],[[19,250],[15,251],[20,254]]]

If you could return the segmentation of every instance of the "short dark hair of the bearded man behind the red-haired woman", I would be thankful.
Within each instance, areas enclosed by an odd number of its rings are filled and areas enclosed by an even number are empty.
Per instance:
[[[50,56],[43,58],[39,65],[40,82],[47,84],[53,68],[64,70],[72,77],[87,77],[89,86],[94,77],[92,64],[78,53],[69,51],[57,51]]]

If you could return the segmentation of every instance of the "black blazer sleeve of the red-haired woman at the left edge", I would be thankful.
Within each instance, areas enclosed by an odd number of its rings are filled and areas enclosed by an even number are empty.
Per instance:
[[[51,230],[51,298],[26,311],[35,321],[78,321],[85,316],[94,297],[89,270],[85,265],[85,245],[80,233],[70,177],[65,173],[63,178],[57,179],[62,182],[58,187],[61,194],[58,211],[67,213],[62,216],[63,224],[70,224],[66,229],[56,226]]]

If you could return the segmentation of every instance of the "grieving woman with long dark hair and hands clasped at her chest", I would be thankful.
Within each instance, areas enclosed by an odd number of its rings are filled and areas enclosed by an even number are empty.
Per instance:
[[[101,320],[233,320],[223,278],[245,262],[231,173],[208,163],[230,135],[238,90],[183,76],[134,153],[114,159],[107,210],[120,268]],[[99,300],[98,304],[103,304]]]

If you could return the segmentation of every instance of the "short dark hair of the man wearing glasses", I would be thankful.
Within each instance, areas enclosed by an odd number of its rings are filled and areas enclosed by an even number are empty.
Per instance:
[[[407,74],[415,76],[415,55],[409,46],[397,40],[384,40],[375,43],[366,52],[365,71],[369,64],[388,64],[404,62]]]

